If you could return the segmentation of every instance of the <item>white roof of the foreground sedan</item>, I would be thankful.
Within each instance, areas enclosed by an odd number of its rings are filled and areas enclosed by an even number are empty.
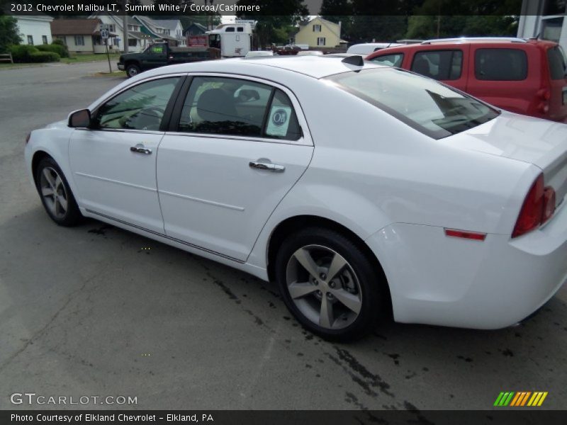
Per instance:
[[[288,72],[307,75],[316,79],[329,75],[341,74],[343,72],[359,71],[360,69],[383,68],[383,65],[364,62],[357,66],[343,62],[344,57],[325,56],[274,56],[274,57],[251,57],[248,59],[223,59],[208,60],[202,62],[190,62],[177,64],[169,67],[161,67],[144,72],[140,75],[161,75],[174,72],[222,72],[237,74],[257,75],[269,74],[271,68],[283,69]],[[258,67],[257,70],[254,68]],[[262,69],[260,69],[262,67]]]

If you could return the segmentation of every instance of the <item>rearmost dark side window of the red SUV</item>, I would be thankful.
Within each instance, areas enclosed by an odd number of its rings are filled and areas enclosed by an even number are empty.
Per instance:
[[[483,81],[520,81],[527,78],[527,55],[520,49],[478,49],[474,74]]]

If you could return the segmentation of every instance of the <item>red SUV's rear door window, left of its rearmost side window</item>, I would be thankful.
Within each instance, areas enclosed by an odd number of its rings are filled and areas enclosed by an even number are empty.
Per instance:
[[[413,57],[413,72],[437,80],[461,78],[463,52],[461,50],[428,50],[417,52]]]

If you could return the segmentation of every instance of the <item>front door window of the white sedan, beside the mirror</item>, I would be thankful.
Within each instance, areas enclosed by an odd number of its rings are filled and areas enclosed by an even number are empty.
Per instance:
[[[179,77],[147,81],[125,90],[96,113],[99,128],[158,131]]]

